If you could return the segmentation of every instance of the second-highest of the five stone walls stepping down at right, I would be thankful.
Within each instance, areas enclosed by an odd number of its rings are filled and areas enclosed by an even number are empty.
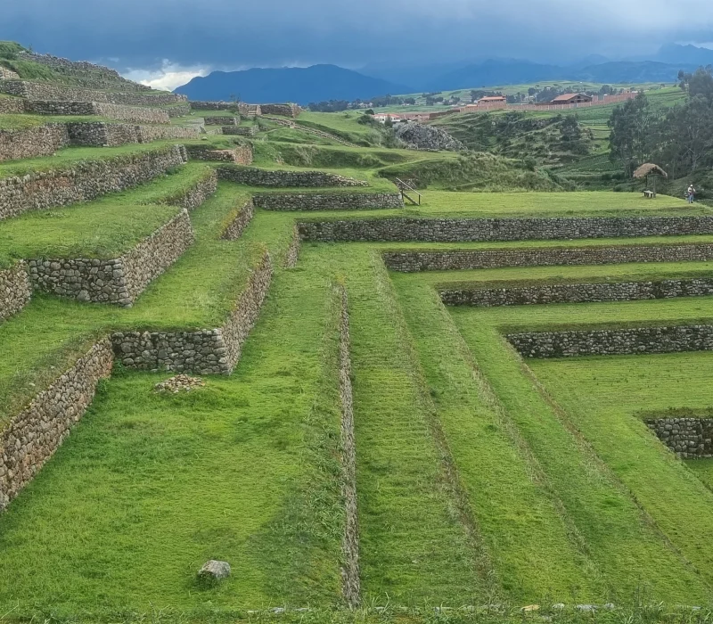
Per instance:
[[[321,240],[304,231],[303,239]],[[617,247],[538,247],[530,249],[386,251],[392,271],[453,271],[471,268],[554,267],[559,265],[608,265],[627,262],[694,262],[713,259],[713,244],[628,245]]]

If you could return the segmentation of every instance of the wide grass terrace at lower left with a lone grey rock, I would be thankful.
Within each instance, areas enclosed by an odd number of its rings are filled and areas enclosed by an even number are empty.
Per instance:
[[[340,602],[338,310],[330,259],[306,269],[278,271],[231,378],[176,397],[152,393],[167,374],[102,384],[0,517],[3,612]],[[201,587],[211,558],[233,575]]]

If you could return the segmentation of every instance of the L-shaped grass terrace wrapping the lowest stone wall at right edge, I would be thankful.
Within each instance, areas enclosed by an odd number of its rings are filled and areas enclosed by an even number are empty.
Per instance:
[[[703,460],[699,468],[697,462],[677,460],[640,415],[713,405],[713,355],[586,357],[528,364],[652,521],[710,584],[710,462]]]

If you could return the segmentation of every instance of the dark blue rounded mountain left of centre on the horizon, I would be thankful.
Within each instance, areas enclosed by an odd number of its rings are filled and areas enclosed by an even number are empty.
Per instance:
[[[307,68],[214,71],[209,76],[193,78],[176,88],[191,100],[230,100],[243,102],[293,102],[307,105],[324,100],[366,99],[384,94],[406,93],[408,86],[381,78],[364,76],[336,65]]]

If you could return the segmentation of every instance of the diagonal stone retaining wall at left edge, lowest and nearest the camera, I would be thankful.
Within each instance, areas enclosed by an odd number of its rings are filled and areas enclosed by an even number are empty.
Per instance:
[[[111,342],[103,339],[0,432],[0,510],[35,478],[94,398],[96,384],[109,377]]]

